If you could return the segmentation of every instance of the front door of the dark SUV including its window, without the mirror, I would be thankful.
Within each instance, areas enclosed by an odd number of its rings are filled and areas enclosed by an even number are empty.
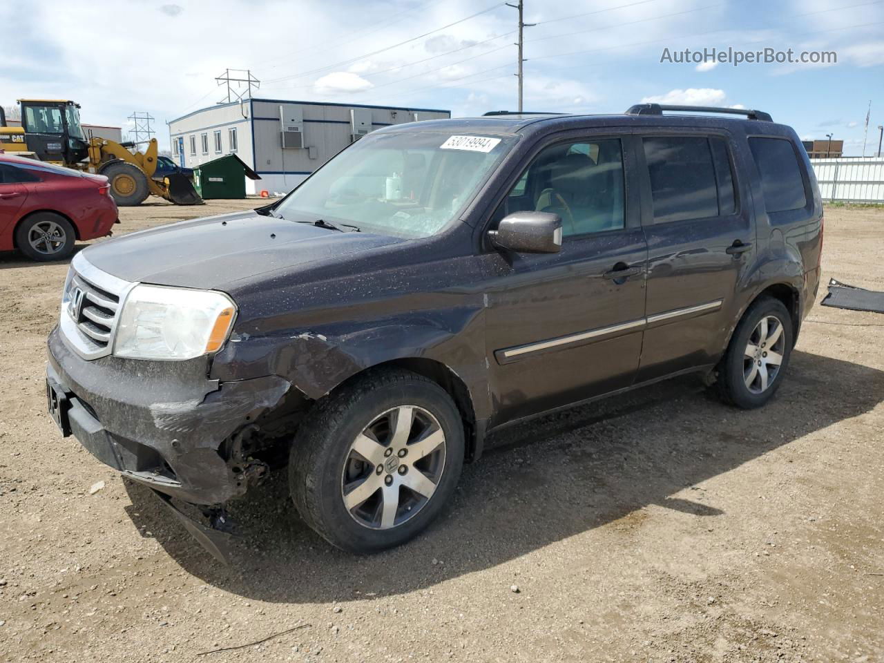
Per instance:
[[[535,415],[632,384],[644,326],[647,249],[625,137],[542,149],[495,219],[555,212],[557,254],[494,255],[486,340],[495,419]],[[624,169],[624,163],[627,168]]]

